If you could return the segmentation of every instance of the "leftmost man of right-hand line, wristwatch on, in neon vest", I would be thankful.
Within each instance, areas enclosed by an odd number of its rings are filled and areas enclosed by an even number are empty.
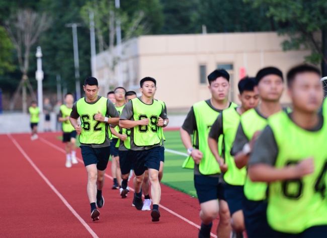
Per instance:
[[[237,105],[228,101],[230,84],[226,70],[213,71],[208,75],[208,81],[211,98],[195,103],[181,128],[181,139],[190,156],[183,167],[194,168],[194,185],[201,206],[202,223],[199,237],[210,237],[212,221],[217,218],[218,213],[217,236],[229,237],[231,226],[228,205],[219,181],[221,173],[219,165],[208,146],[208,135],[219,113],[223,109]],[[221,145],[222,137],[218,143]]]

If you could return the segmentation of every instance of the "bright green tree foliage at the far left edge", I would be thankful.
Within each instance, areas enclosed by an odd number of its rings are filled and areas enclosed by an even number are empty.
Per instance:
[[[6,30],[0,27],[0,75],[5,71],[13,71],[15,66],[13,65],[12,50],[14,45],[9,39]]]

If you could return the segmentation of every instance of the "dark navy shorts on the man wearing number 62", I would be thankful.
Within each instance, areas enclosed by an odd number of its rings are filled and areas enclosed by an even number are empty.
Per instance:
[[[92,148],[90,146],[80,146],[80,151],[84,165],[97,164],[98,170],[105,170],[110,157],[110,146],[101,148]]]

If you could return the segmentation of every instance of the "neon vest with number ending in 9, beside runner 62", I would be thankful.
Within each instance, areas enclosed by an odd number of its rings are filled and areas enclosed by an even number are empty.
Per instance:
[[[161,134],[156,126],[158,116],[162,112],[162,105],[153,100],[152,104],[145,104],[139,98],[133,98],[134,121],[149,119],[149,124],[145,126],[134,127],[134,144],[136,146],[153,146],[161,143]]]

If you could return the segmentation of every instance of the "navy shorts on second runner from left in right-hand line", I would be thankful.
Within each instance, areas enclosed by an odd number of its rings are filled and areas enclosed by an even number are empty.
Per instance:
[[[242,210],[243,202],[245,199],[244,190],[243,190],[244,186],[230,185],[228,183],[225,183],[223,186],[224,186],[225,198],[226,198],[226,202],[228,203],[230,215],[232,215],[234,212],[238,210]]]

